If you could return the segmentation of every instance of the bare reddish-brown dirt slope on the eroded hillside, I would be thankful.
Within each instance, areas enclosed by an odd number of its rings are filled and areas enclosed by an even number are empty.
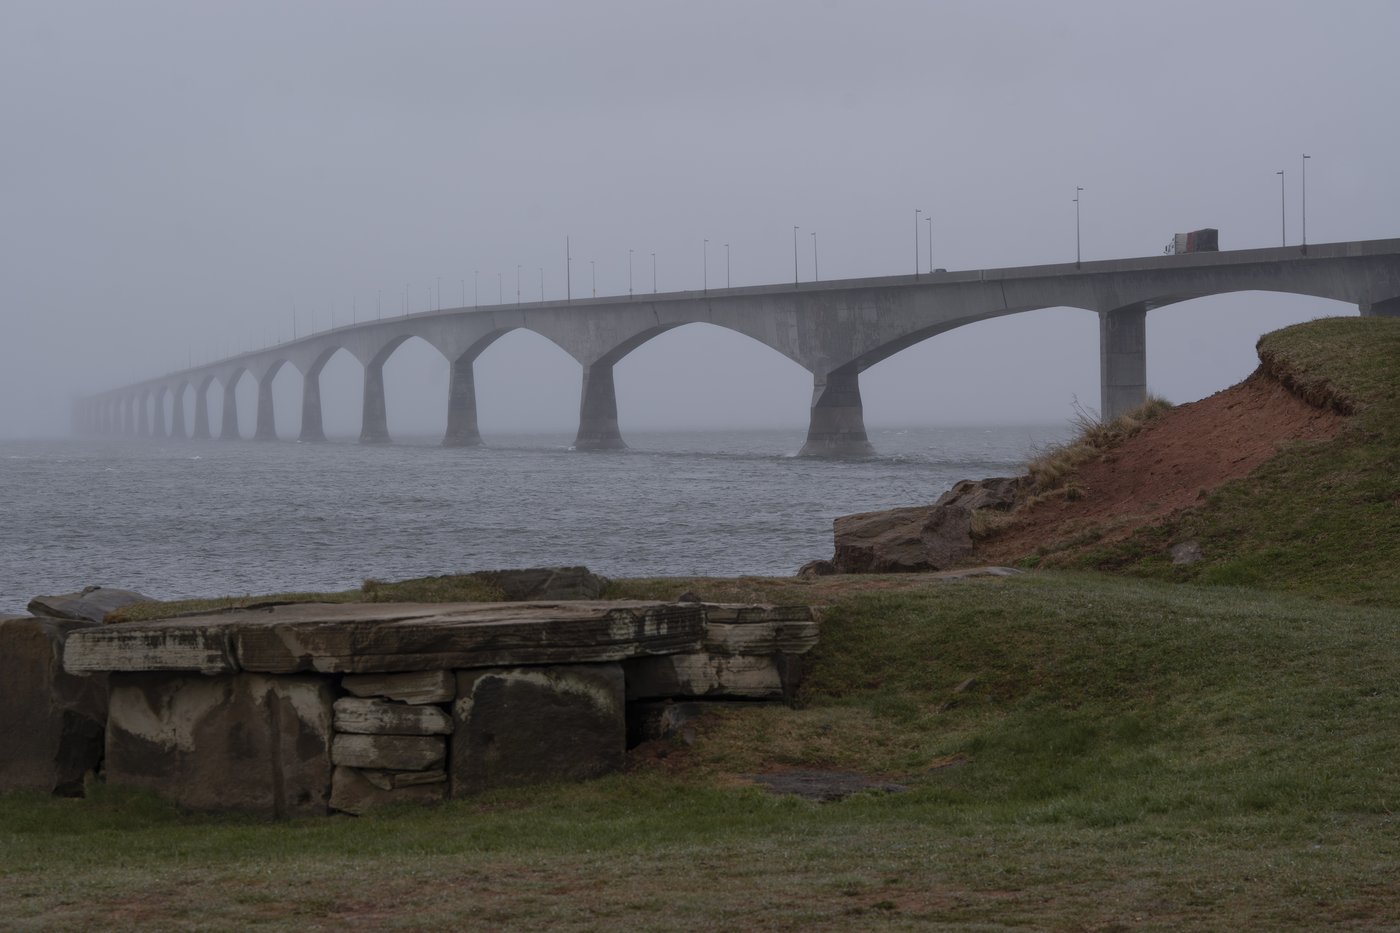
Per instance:
[[[1110,544],[1198,503],[1208,490],[1249,475],[1284,441],[1326,440],[1345,424],[1275,378],[1256,371],[1239,385],[1180,405],[1102,459],[1078,468],[1077,499],[1050,499],[977,542],[973,562],[1012,562],[1037,549]]]

